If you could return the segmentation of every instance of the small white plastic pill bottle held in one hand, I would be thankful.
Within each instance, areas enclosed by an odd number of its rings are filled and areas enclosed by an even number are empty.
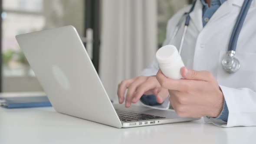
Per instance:
[[[166,45],[158,49],[156,58],[163,74],[170,79],[181,79],[181,67],[184,63],[177,48],[173,45]]]

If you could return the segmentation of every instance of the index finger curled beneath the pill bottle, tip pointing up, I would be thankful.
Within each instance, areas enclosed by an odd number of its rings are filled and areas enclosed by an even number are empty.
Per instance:
[[[188,80],[186,79],[169,79],[167,78],[161,70],[157,73],[157,79],[162,88],[170,89],[170,90],[178,90],[182,91],[187,89]]]

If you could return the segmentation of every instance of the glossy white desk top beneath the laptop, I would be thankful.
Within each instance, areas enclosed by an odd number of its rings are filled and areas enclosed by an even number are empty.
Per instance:
[[[256,127],[219,128],[199,120],[118,129],[53,108],[0,108],[0,144],[256,144]]]

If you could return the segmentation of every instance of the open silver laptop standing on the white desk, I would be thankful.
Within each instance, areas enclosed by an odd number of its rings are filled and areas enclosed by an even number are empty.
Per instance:
[[[116,128],[199,119],[181,118],[171,110],[113,105],[73,26],[21,34],[16,39],[59,113]]]

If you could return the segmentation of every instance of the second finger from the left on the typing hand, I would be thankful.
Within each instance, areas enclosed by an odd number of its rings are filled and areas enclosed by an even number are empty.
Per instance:
[[[125,98],[125,106],[130,107],[131,106],[131,99],[133,98],[135,94],[136,88],[141,85],[143,82],[145,82],[147,79],[145,77],[141,77],[136,79],[131,85],[128,87],[128,92],[126,94]]]

